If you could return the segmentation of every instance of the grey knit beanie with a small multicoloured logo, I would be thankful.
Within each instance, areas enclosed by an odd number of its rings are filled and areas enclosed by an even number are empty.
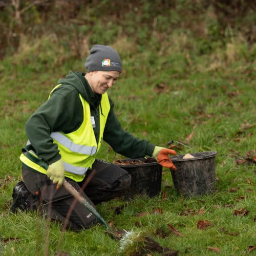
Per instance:
[[[115,49],[95,45],[84,63],[87,71],[122,71],[122,62]]]

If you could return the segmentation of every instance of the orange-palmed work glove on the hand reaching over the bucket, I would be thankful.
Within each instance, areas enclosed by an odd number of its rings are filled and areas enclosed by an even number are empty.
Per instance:
[[[155,146],[155,149],[153,151],[153,157],[155,157],[159,164],[161,164],[163,167],[176,170],[176,166],[170,160],[169,154],[177,155],[176,151],[169,150],[168,148],[160,146]]]

